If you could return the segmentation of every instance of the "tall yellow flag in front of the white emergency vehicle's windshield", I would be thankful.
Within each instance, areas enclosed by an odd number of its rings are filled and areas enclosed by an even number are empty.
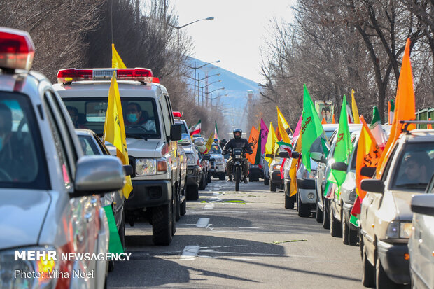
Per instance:
[[[130,164],[128,160],[124,117],[120,104],[118,82],[116,81],[116,71],[113,72],[113,77],[111,78],[103,140],[109,141],[109,143],[116,147],[116,155],[123,164]],[[132,190],[131,177],[125,176],[125,181],[127,181],[127,183],[123,188],[123,194],[125,198],[128,199]]]

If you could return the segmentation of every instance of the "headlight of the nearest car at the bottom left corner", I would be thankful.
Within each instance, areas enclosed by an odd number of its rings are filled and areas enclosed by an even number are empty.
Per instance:
[[[59,269],[57,260],[42,260],[35,255],[35,261],[15,260],[15,251],[55,251],[52,247],[29,247],[0,252],[0,288],[55,288],[57,279],[50,278],[48,271]],[[26,254],[27,255],[27,254]],[[41,259],[41,260],[39,260]]]

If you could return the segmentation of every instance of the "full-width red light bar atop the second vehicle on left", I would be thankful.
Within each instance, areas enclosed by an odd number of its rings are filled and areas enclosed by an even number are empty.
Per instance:
[[[151,69],[60,69],[57,72],[58,83],[71,83],[83,80],[111,80],[116,71],[117,80],[134,80],[144,83],[153,82]]]

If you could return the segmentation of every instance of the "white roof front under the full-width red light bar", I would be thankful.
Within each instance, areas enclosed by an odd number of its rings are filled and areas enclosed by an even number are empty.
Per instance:
[[[107,97],[110,81],[77,81],[68,85],[56,83],[52,87],[61,97]],[[121,97],[159,97],[167,94],[164,86],[158,83],[139,83],[139,81],[119,80],[118,87]]]

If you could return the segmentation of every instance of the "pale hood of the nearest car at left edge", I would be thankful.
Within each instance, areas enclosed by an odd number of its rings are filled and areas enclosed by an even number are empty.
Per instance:
[[[43,190],[0,189],[0,250],[38,244],[50,194]]]

